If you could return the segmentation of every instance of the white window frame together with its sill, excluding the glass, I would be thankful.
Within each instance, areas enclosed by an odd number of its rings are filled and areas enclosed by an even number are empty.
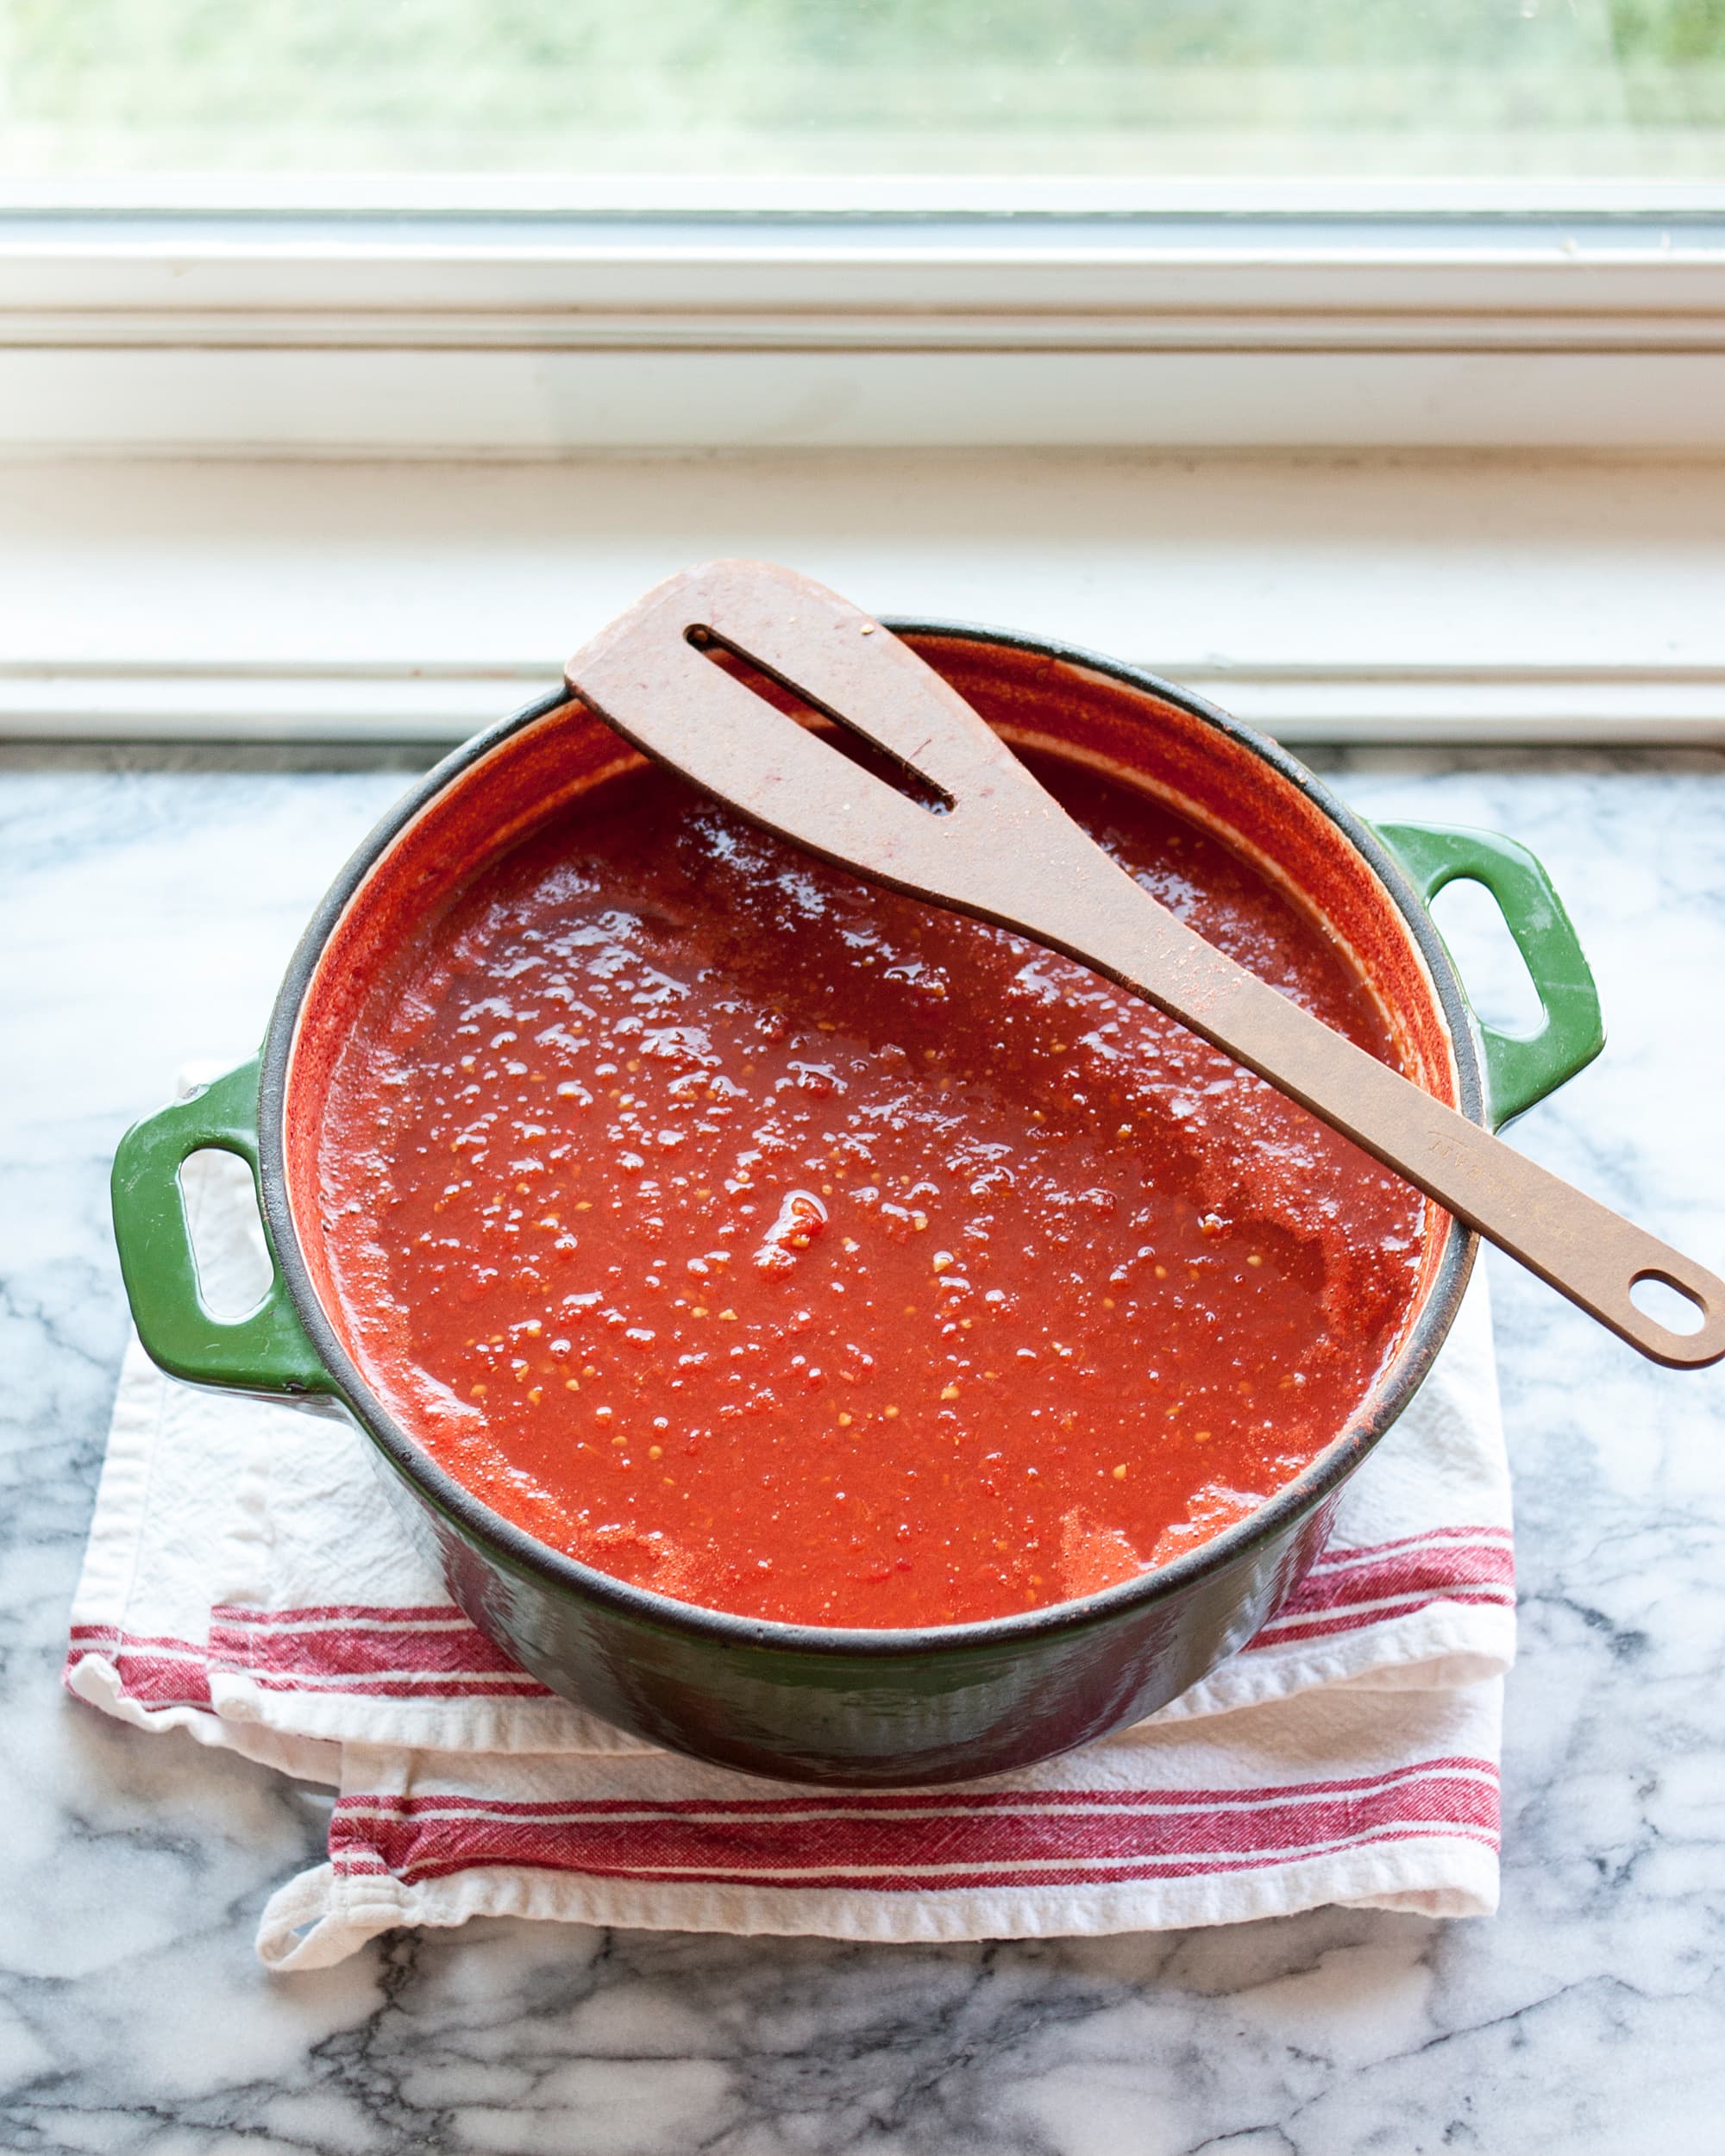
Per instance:
[[[1725,185],[13,185],[0,740],[457,740],[696,548],[1296,742],[1714,746],[1721,453]]]

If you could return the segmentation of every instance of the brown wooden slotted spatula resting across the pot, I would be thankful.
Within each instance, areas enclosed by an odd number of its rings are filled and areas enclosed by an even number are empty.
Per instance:
[[[727,675],[714,645],[873,742],[944,813]],[[1208,944],[1108,860],[940,675],[837,593],[757,561],[686,569],[576,653],[567,677],[621,735],[750,821],[1145,996],[1656,1363],[1725,1356],[1725,1283]],[[1637,1309],[1637,1281],[1678,1289],[1701,1311],[1699,1330]]]

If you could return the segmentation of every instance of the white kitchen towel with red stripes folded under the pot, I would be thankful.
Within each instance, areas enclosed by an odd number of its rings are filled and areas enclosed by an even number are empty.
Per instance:
[[[188,1164],[209,1294],[248,1194]],[[198,1393],[136,1348],[67,1686],[336,1787],[330,1863],[263,1915],[276,1968],[401,1923],[996,1938],[1496,1904],[1514,1654],[1484,1279],[1346,1485],[1330,1544],[1231,1662],[1136,1729],[940,1792],[811,1792],[653,1751],[520,1671],[444,1591],[345,1421]]]

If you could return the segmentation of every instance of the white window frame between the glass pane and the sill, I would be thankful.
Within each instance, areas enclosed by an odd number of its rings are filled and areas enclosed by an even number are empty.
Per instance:
[[[13,190],[0,448],[1725,446],[1725,185]]]

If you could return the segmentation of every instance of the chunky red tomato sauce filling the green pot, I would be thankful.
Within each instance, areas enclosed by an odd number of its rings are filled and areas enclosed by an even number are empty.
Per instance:
[[[1391,1059],[1242,856],[1037,772]],[[453,1477],[617,1578],[819,1626],[996,1617],[1205,1542],[1348,1423],[1421,1259],[1406,1184],[1179,1024],[658,770],[397,955],[319,1173],[367,1376]]]

